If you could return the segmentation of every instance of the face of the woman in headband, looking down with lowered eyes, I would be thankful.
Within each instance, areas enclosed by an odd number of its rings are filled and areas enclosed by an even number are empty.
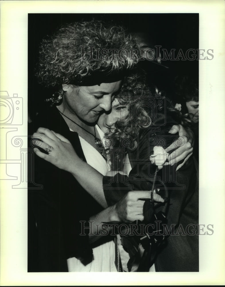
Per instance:
[[[111,110],[111,104],[120,90],[121,82],[81,87],[63,84],[62,88],[66,91],[63,97],[64,106],[82,121],[94,123],[102,112]]]

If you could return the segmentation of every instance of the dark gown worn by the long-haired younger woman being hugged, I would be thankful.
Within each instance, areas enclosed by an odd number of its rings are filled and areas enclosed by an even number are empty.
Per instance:
[[[103,178],[104,193],[109,205],[114,204],[131,189],[152,189],[154,180],[152,175],[156,171],[156,165],[151,164],[149,157],[153,154],[153,147],[159,145],[166,148],[178,137],[178,135],[168,133],[171,126],[177,123],[173,113],[167,112],[166,123],[164,123],[164,119],[164,115],[159,114],[150,128],[140,131],[138,148],[129,154],[132,166],[129,177],[117,174],[114,179]],[[194,235],[188,234],[188,231],[193,233],[191,230],[196,229],[198,224],[198,187],[196,186],[196,169],[193,158],[189,158],[177,172],[176,165],[164,166],[157,172],[157,176],[159,176],[159,180],[156,181],[155,187],[160,188],[159,194],[162,197],[169,197],[169,201],[163,204],[159,210],[166,214],[167,229],[174,226],[173,233],[178,234],[170,235],[166,244],[161,245],[157,251],[156,271],[197,272],[199,270],[198,236],[196,232]],[[188,230],[189,224],[193,224],[194,228],[191,226]],[[186,230],[188,231],[186,232]],[[148,268],[143,271],[146,270]]]

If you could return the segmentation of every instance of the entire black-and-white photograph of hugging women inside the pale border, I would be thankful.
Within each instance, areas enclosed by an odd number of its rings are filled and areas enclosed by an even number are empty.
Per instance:
[[[198,27],[28,15],[28,272],[199,271]]]

